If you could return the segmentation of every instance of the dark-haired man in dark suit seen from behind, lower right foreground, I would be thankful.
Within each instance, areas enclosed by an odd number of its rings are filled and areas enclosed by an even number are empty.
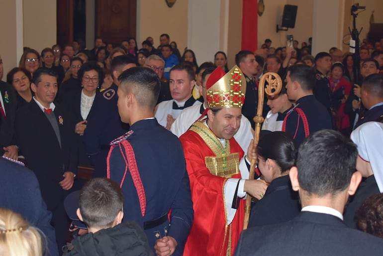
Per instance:
[[[356,145],[337,131],[310,134],[289,172],[301,213],[284,224],[244,231],[235,255],[382,255],[381,238],[343,223],[344,206],[362,179],[355,171],[357,157]]]

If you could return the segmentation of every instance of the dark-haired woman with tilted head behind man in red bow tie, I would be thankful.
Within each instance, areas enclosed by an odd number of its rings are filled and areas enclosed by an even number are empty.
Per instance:
[[[32,100],[32,91],[30,90],[30,73],[25,68],[12,68],[6,75],[6,82],[13,86],[17,92],[17,109],[26,105]]]

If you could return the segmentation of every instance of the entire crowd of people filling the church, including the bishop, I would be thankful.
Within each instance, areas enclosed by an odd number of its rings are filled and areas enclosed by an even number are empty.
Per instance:
[[[0,255],[381,254],[383,39],[233,67],[159,39],[25,47],[6,82],[0,57]]]

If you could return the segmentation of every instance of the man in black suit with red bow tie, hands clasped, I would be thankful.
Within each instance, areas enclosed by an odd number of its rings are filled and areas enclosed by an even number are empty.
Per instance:
[[[19,109],[15,137],[27,166],[36,174],[41,194],[52,211],[59,248],[65,244],[69,226],[64,198],[72,188],[77,170],[74,126],[69,115],[53,104],[57,94],[57,76],[48,68],[33,74],[33,100]]]

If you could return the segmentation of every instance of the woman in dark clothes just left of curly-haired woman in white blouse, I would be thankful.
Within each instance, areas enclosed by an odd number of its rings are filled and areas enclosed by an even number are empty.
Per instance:
[[[65,94],[81,88],[81,80],[79,79],[78,72],[83,66],[83,60],[79,57],[73,57],[70,63],[70,68],[66,75],[68,76],[68,79],[64,79],[56,96],[56,101],[59,103],[62,101]]]

